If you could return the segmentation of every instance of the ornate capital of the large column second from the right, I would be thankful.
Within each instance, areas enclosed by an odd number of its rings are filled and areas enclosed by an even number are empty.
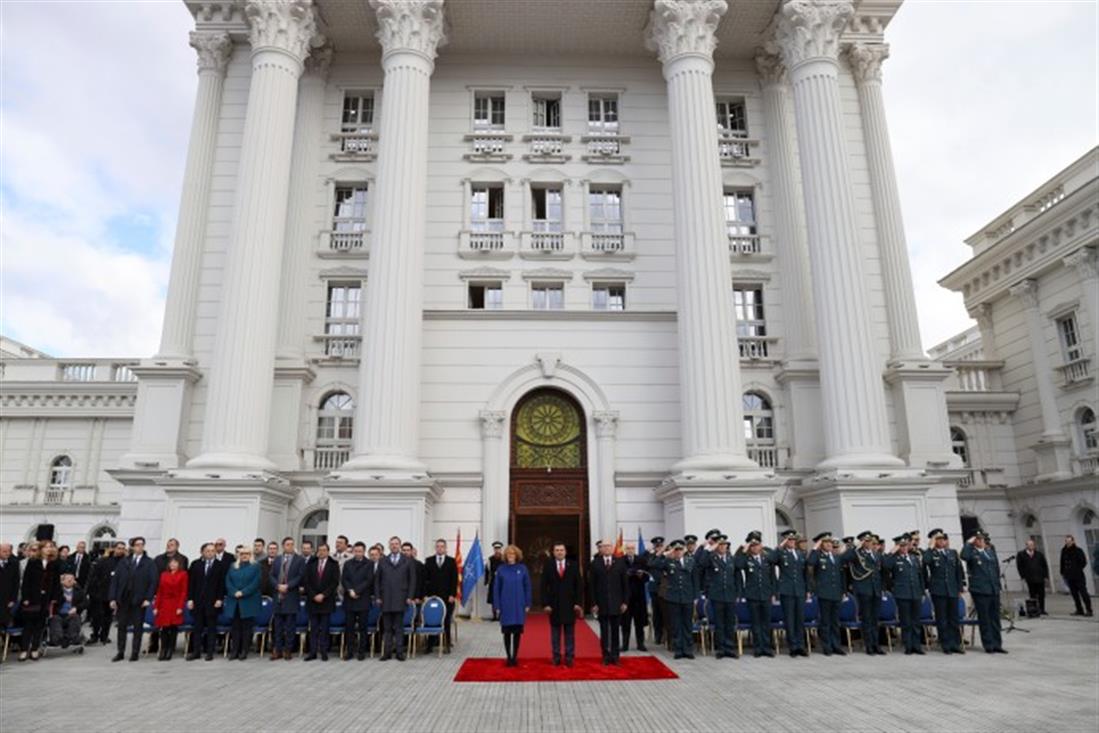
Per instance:
[[[855,14],[850,0],[789,0],[779,11],[775,42],[791,70],[806,62],[835,62],[840,36]]]

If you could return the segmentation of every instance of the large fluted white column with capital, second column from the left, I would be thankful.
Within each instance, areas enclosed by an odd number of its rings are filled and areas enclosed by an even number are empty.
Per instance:
[[[271,469],[267,458],[279,274],[302,60],[317,33],[312,0],[249,0],[252,85],[241,141],[218,334],[192,468]]]

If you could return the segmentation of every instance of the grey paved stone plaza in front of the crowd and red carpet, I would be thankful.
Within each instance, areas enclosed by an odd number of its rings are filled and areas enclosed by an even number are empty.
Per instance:
[[[0,730],[22,731],[1092,731],[1099,623],[1055,614],[1008,634],[1010,654],[674,662],[655,682],[455,684],[498,656],[490,623],[456,653],[377,660],[111,664],[113,648],[0,669]],[[967,634],[968,637],[968,634]],[[979,646],[979,642],[978,642]],[[326,687],[321,692],[318,684]],[[175,702],[170,702],[175,700]]]

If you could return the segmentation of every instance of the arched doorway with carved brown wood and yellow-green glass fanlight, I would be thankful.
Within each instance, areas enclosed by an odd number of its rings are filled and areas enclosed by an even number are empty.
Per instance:
[[[556,389],[536,389],[511,418],[508,536],[523,551],[534,606],[555,542],[582,563],[588,548],[588,457],[584,410]]]

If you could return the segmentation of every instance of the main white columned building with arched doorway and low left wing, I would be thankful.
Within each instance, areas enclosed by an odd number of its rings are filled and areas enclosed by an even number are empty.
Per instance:
[[[186,4],[159,351],[7,359],[5,538],[959,531],[899,0]]]

